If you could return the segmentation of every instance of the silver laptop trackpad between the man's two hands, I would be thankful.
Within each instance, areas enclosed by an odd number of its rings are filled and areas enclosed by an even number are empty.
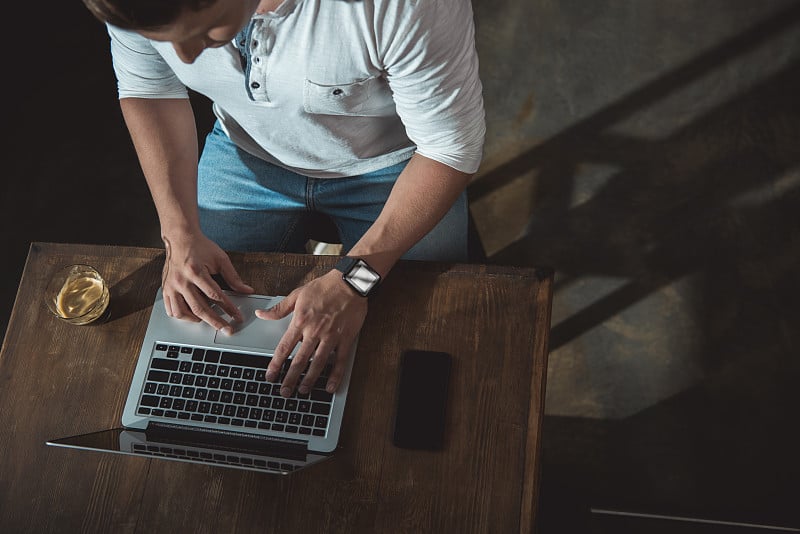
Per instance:
[[[236,307],[242,312],[242,322],[234,323],[234,332],[225,335],[222,332],[215,332],[214,343],[233,347],[244,347],[266,351],[274,351],[283,333],[289,327],[292,320],[291,314],[288,317],[277,321],[259,319],[255,315],[257,309],[266,309],[274,306],[281,297],[262,297],[262,296],[233,296],[229,295]],[[222,315],[226,321],[230,320],[227,314]]]

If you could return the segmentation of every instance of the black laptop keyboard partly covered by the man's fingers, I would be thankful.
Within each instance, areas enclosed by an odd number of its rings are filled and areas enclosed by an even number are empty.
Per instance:
[[[325,391],[330,365],[310,392],[295,389],[287,399],[280,388],[291,360],[275,382],[267,382],[270,361],[260,354],[156,343],[136,413],[238,431],[325,436],[334,397]]]

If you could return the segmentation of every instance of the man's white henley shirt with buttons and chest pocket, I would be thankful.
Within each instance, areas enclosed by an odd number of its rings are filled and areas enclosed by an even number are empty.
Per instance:
[[[186,64],[171,43],[109,25],[119,98],[188,98],[191,88],[243,150],[315,178],[414,152],[478,169],[485,119],[470,0],[285,0],[250,30]]]

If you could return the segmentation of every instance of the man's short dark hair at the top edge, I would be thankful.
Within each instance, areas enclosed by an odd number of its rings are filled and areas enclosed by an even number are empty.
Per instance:
[[[200,11],[217,0],[83,0],[101,22],[126,30],[163,28],[185,9]]]

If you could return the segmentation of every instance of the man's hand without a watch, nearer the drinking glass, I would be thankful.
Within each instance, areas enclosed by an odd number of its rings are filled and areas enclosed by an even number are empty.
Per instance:
[[[167,315],[187,321],[205,321],[230,335],[233,325],[225,322],[212,309],[216,303],[233,322],[241,322],[242,314],[211,278],[220,274],[234,291],[252,293],[242,282],[230,258],[213,241],[202,234],[178,240],[164,238],[167,259],[161,278]]]

